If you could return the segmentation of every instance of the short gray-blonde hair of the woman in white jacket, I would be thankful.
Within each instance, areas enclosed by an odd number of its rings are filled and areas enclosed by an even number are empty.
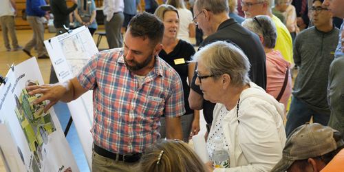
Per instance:
[[[202,47],[192,58],[192,62],[200,61],[211,75],[216,75],[215,79],[219,75],[228,74],[230,83],[235,87],[244,87],[250,83],[250,62],[244,52],[232,43],[216,41]]]

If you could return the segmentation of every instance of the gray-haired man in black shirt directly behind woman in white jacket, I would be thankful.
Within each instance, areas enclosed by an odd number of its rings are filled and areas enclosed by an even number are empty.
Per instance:
[[[208,36],[201,43],[200,48],[214,41],[235,43],[248,56],[249,76],[252,82],[266,89],[266,57],[259,37],[239,25],[235,19],[229,19],[228,12],[227,0],[195,1],[193,22]],[[194,72],[189,96],[190,107],[191,109],[204,109],[204,118],[209,126],[213,121],[215,104],[204,100],[200,86],[195,85],[196,78],[197,72]],[[204,80],[206,79],[204,78]]]

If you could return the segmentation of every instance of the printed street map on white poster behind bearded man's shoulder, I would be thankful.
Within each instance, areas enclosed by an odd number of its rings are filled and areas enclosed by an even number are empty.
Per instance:
[[[73,76],[76,76],[85,63],[89,61],[89,57],[94,55],[90,52],[98,52],[98,49],[94,48],[94,41],[90,42],[87,39],[89,35],[85,34],[89,34],[88,30],[59,41]]]

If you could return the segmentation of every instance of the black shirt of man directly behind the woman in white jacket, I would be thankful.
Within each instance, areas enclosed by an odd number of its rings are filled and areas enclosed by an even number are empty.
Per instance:
[[[248,75],[250,80],[257,84],[259,87],[266,89],[266,56],[264,47],[261,45],[260,39],[257,34],[250,32],[246,28],[242,27],[235,21],[235,19],[228,19],[219,25],[217,32],[208,36],[200,45],[200,49],[209,43],[215,41],[227,41],[228,43],[236,44],[248,57],[250,61],[250,72]],[[195,65],[196,69],[197,65]],[[193,73],[193,79],[191,82],[191,89],[200,95],[202,91],[200,86],[195,85],[197,76]],[[203,114],[204,119],[208,124],[213,122],[213,110],[215,103],[204,100],[203,102]]]

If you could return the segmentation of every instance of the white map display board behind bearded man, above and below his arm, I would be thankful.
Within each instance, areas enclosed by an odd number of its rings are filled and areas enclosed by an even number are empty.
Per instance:
[[[60,83],[74,78],[85,63],[98,52],[96,43],[85,26],[46,40],[44,44]],[[92,169],[93,138],[90,131],[93,125],[92,101],[92,91],[89,91],[67,103],[89,169]]]

